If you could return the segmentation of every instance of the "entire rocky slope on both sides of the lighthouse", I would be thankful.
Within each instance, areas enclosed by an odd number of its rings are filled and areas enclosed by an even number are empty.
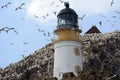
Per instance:
[[[120,31],[85,34],[81,38],[84,64],[83,71],[78,73],[81,80],[116,76],[118,79],[114,80],[120,80]],[[53,76],[53,64],[54,49],[50,43],[21,61],[0,68],[0,80],[45,80]]]

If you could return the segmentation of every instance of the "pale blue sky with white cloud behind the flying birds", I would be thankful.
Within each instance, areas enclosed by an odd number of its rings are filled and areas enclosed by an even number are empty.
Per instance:
[[[62,0],[1,0],[0,29],[14,28],[0,32],[0,67],[23,59],[35,50],[44,47],[55,38],[57,14],[64,8]],[[102,33],[120,30],[120,0],[63,0],[69,2],[83,20],[78,19],[83,35],[93,25]],[[10,2],[10,4],[8,4]],[[18,7],[22,4],[22,9]],[[7,7],[3,7],[4,5]],[[56,13],[56,14],[55,14]],[[100,22],[102,23],[100,25]],[[44,32],[39,32],[43,31]],[[50,35],[48,35],[50,34]]]

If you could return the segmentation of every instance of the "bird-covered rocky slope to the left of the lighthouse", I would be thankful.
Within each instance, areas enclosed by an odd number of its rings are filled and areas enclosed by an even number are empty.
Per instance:
[[[0,70],[0,80],[44,80],[53,75],[53,44]]]

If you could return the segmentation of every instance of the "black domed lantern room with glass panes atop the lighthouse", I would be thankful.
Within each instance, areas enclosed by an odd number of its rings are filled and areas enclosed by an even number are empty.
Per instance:
[[[69,3],[65,2],[65,7],[57,15],[58,25],[57,28],[78,28],[78,15],[76,12],[69,8]]]

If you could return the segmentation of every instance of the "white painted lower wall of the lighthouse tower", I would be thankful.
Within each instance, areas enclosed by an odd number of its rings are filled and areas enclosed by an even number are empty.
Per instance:
[[[74,66],[82,66],[82,54],[80,56],[74,54],[74,48],[81,49],[81,43],[77,41],[61,41],[54,44],[54,77],[58,80],[62,78],[62,73],[73,72],[76,76]]]

